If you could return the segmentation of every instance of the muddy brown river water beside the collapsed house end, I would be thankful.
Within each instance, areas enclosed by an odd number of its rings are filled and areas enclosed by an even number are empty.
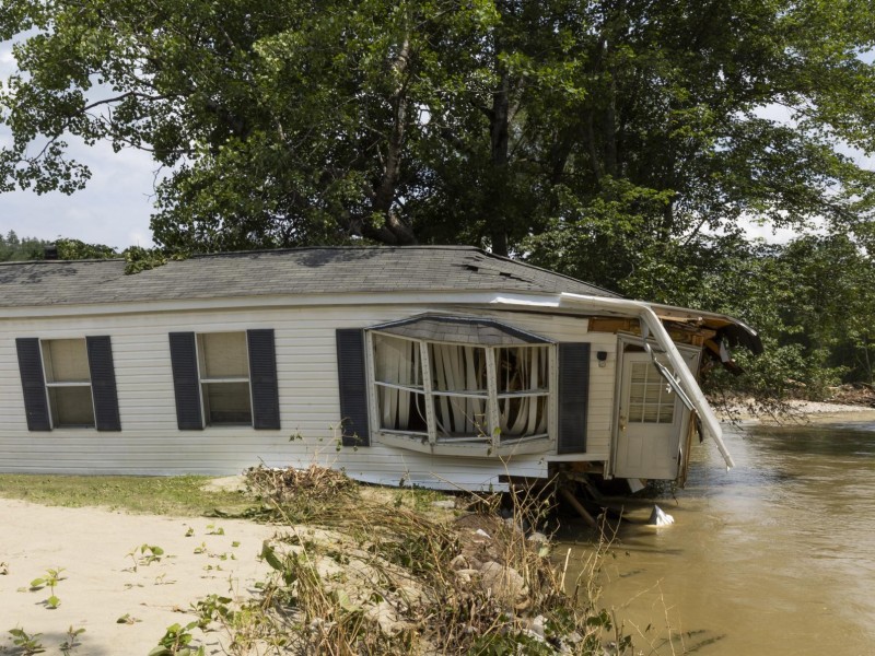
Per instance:
[[[635,654],[875,654],[875,419],[746,431],[730,472],[695,448],[674,525],[621,526],[600,606]]]

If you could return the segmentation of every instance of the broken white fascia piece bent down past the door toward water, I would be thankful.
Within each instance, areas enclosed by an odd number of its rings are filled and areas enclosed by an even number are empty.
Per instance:
[[[623,316],[637,317],[644,323],[650,329],[653,339],[662,348],[668,356],[668,362],[672,363],[672,368],[675,375],[678,376],[680,386],[687,393],[692,401],[696,413],[702,420],[702,425],[709,436],[714,441],[720,450],[720,455],[726,462],[727,468],[735,467],[735,462],[723,443],[723,430],[720,427],[720,420],[714,414],[708,400],[704,398],[696,377],[692,372],[687,367],[680,352],[675,347],[675,342],[668,335],[668,331],[663,326],[660,317],[653,312],[653,308],[641,301],[629,301],[627,298],[605,298],[602,296],[584,296],[582,294],[561,294],[561,305],[569,305],[582,309],[591,309],[592,312],[611,312]]]

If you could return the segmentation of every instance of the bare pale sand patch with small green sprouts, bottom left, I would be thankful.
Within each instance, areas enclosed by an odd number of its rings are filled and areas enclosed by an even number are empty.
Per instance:
[[[219,528],[224,535],[210,535]],[[194,535],[186,537],[189,529]],[[190,608],[199,598],[248,595],[252,584],[265,577],[267,565],[257,555],[262,540],[275,532],[275,527],[250,522],[0,499],[0,654],[16,653],[8,633],[15,628],[42,633],[46,654],[60,654],[58,646],[72,626],[85,629],[72,652],[77,656],[144,656],[167,626],[195,619]],[[128,553],[144,543],[161,547],[165,555],[135,572]],[[206,550],[195,553],[201,547]],[[28,588],[46,570],[58,567],[65,577],[55,590],[60,606],[49,609],[48,588]],[[139,621],[117,623],[126,614]],[[207,636],[207,653],[221,653],[214,633]]]

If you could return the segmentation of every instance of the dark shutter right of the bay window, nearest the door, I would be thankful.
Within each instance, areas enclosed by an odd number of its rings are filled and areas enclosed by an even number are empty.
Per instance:
[[[557,453],[586,452],[590,409],[590,344],[559,344],[559,444]]]

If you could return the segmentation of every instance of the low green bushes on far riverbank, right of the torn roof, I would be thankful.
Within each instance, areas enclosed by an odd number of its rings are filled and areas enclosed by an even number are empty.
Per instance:
[[[738,349],[746,375],[715,371],[711,391],[818,399],[843,380],[873,382],[872,280],[875,260],[845,235],[785,245],[727,236],[664,249],[623,281],[623,291],[728,314],[760,331],[765,353]]]

